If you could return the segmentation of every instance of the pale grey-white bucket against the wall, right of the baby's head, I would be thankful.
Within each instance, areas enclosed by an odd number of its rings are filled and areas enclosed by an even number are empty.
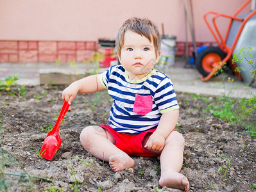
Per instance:
[[[176,36],[162,36],[161,37],[161,57],[160,60],[167,66],[175,64],[176,52]]]

